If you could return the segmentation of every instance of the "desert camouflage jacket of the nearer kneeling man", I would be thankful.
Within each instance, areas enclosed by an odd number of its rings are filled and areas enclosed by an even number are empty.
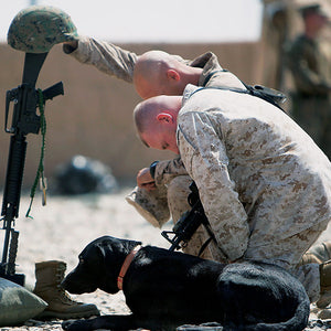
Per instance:
[[[330,161],[257,97],[188,85],[178,146],[228,260],[331,217]]]

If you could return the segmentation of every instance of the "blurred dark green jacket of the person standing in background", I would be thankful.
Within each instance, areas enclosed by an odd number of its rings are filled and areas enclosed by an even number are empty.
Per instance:
[[[287,49],[287,65],[299,94],[328,95],[331,92],[331,63],[321,45],[300,35]]]

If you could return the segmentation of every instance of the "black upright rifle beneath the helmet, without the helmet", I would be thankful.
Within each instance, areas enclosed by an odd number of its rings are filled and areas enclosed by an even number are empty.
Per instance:
[[[7,166],[7,177],[3,191],[2,212],[3,229],[6,231],[0,277],[23,285],[24,275],[15,274],[15,257],[18,250],[19,232],[13,225],[19,217],[21,186],[26,154],[26,136],[38,135],[41,128],[41,116],[36,108],[44,105],[47,99],[64,94],[62,82],[45,90],[35,89],[40,70],[45,61],[45,53],[25,53],[22,84],[7,92],[4,130],[11,134]],[[42,100],[41,100],[42,99]],[[9,127],[10,104],[13,102],[12,122]],[[42,104],[40,104],[40,102]]]

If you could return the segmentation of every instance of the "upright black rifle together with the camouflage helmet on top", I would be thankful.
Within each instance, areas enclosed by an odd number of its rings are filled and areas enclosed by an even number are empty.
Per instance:
[[[24,285],[25,276],[15,274],[19,232],[14,231],[13,226],[19,217],[26,136],[39,135],[43,120],[41,108],[45,102],[64,94],[62,82],[44,90],[35,89],[35,83],[51,47],[56,43],[72,41],[76,35],[76,29],[66,13],[53,7],[39,6],[19,12],[8,32],[8,43],[13,49],[25,52],[25,58],[22,84],[8,90],[6,95],[4,130],[11,137],[1,211],[6,234],[0,277],[19,285]]]

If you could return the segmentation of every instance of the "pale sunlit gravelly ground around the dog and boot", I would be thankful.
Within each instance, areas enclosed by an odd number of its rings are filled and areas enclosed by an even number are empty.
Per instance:
[[[125,195],[129,191],[129,188],[124,188],[116,194],[107,195],[49,196],[46,206],[41,205],[41,196],[38,194],[31,212],[33,220],[24,217],[30,200],[28,195],[22,195],[20,217],[15,222],[15,229],[20,231],[17,273],[25,275],[26,286],[34,286],[36,261],[64,260],[67,270],[71,270],[77,264],[79,252],[90,241],[103,235],[138,239],[142,241],[143,245],[168,248],[169,244],[161,236],[160,229],[147,223],[125,201]],[[171,224],[168,227],[170,228]],[[319,241],[323,239],[331,239],[331,229],[328,229]],[[2,238],[0,243],[1,250]],[[121,292],[110,296],[97,290],[94,293],[72,297],[97,305],[102,314],[129,313]],[[306,330],[330,329],[330,320],[321,322],[313,312],[311,313],[310,325]],[[30,320],[24,325],[0,330],[40,331],[62,330],[62,328],[61,321],[42,323]]]

